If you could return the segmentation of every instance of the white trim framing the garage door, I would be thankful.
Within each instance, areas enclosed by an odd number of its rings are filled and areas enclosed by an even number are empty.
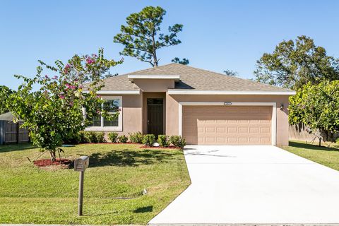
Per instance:
[[[277,143],[277,104],[275,102],[179,102],[179,136],[182,136],[182,106],[272,106],[272,145]]]

